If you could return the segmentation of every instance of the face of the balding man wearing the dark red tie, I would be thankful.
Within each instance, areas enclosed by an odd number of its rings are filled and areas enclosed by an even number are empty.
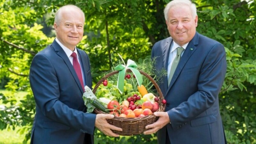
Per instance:
[[[59,24],[54,23],[58,40],[68,49],[74,50],[84,34],[83,14],[75,9],[63,10]]]

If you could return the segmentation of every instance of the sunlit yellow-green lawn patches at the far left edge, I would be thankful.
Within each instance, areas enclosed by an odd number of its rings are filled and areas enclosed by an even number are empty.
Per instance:
[[[3,93],[5,96],[13,95],[17,98],[17,100],[23,99],[23,97],[27,94],[27,92],[18,92],[18,93],[11,93],[7,90],[0,90],[0,93]],[[19,103],[19,101],[17,101]],[[2,104],[2,100],[0,100],[0,106]],[[0,130],[0,144],[23,144],[23,139],[25,138],[25,134],[20,134],[18,131],[19,127],[16,127],[15,130],[5,129]]]

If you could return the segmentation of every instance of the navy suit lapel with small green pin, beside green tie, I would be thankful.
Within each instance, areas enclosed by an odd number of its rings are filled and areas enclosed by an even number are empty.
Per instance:
[[[166,94],[171,89],[172,85],[174,84],[174,82],[176,81],[178,76],[180,75],[181,70],[183,69],[183,67],[185,66],[185,64],[191,57],[191,55],[196,51],[196,49],[197,49],[196,45],[198,44],[198,40],[199,40],[199,35],[196,32],[194,38],[188,43],[188,46],[186,47],[183,55],[181,56],[180,62],[172,76],[172,80],[171,80],[170,85],[166,91]]]

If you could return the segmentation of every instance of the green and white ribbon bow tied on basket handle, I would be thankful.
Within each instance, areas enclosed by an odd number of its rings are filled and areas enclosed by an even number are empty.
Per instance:
[[[118,79],[117,79],[117,88],[119,89],[121,94],[124,92],[124,76],[125,76],[126,69],[131,69],[139,86],[142,84],[142,82],[143,82],[142,76],[141,76],[139,70],[136,69],[137,67],[138,67],[137,64],[130,59],[127,61],[126,66],[123,64],[116,66],[115,70],[119,71]]]

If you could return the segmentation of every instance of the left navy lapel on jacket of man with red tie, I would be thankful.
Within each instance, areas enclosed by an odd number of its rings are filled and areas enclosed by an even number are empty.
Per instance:
[[[68,66],[69,71],[71,72],[72,76],[74,77],[76,84],[78,85],[79,89],[83,93],[83,89],[82,89],[80,81],[76,75],[76,71],[73,68],[73,65],[71,64],[70,60],[68,59],[67,54],[64,52],[64,50],[60,47],[60,45],[55,40],[52,43],[52,47],[55,50],[56,54],[58,54],[64,60],[65,64]]]

